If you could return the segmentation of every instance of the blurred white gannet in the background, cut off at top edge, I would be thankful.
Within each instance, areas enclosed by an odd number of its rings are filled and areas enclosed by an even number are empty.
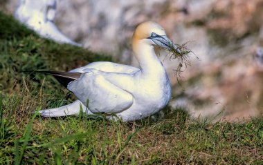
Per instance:
[[[57,26],[55,26],[56,10],[56,0],[20,0],[19,6],[15,11],[15,17],[42,37],[53,39],[58,43],[81,46],[79,43],[71,41],[71,39],[63,35]]]

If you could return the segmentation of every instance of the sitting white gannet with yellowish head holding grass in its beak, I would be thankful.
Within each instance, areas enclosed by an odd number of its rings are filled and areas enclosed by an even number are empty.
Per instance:
[[[132,39],[139,68],[99,61],[69,72],[40,71],[54,75],[78,100],[60,108],[41,110],[44,117],[96,115],[134,121],[157,113],[171,99],[172,88],[154,46],[170,50],[165,30],[152,21],[141,23]],[[180,52],[180,50],[178,50]]]

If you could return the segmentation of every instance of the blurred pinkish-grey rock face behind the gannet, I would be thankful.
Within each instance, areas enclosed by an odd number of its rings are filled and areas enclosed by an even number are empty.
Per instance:
[[[14,12],[17,0],[2,10]],[[161,55],[174,87],[171,106],[184,105],[193,117],[233,121],[262,115],[262,70],[255,50],[263,46],[261,0],[60,0],[55,22],[69,38],[96,52],[136,66],[131,36],[142,21],[156,21],[175,43],[188,42],[192,66],[174,77],[178,64]],[[183,100],[183,104],[179,103]]]

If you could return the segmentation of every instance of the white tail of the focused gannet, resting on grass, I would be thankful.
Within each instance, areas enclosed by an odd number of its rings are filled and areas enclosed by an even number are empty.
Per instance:
[[[46,110],[40,110],[39,113],[43,117],[61,117],[67,115],[78,115],[82,113],[92,114],[80,100],[74,101],[73,103],[62,106],[60,108],[52,108]]]

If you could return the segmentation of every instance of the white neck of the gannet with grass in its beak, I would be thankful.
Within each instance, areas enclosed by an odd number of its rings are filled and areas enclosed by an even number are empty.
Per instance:
[[[165,68],[154,52],[154,46],[139,40],[134,42],[133,47],[134,55],[144,75],[158,75],[165,72]]]

